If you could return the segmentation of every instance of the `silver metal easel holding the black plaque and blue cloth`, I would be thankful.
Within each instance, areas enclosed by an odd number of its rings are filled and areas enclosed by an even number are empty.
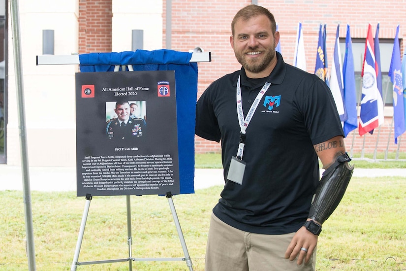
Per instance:
[[[198,52],[193,53],[189,62],[211,62],[211,53],[210,52]],[[65,55],[65,56],[55,56],[55,55],[42,55],[36,56],[36,65],[65,65],[65,64],[80,64],[79,55]],[[131,65],[127,65],[129,71],[133,71]],[[116,65],[114,71],[119,71],[120,68],[125,70],[125,66]],[[132,271],[132,261],[184,261],[189,269],[193,271],[192,261],[187,250],[186,241],[182,232],[181,225],[179,223],[179,218],[176,213],[175,205],[172,200],[172,193],[167,192],[166,198],[168,199],[169,207],[172,212],[173,220],[175,222],[176,230],[182,245],[184,252],[183,258],[134,258],[132,257],[132,234],[131,234],[131,200],[130,196],[126,196],[126,209],[127,209],[127,243],[128,243],[128,257],[123,259],[113,259],[113,260],[100,260],[100,261],[88,261],[88,262],[79,262],[80,248],[82,246],[82,240],[85,232],[85,226],[87,217],[89,214],[90,202],[92,200],[92,195],[86,195],[85,208],[82,215],[82,222],[79,229],[78,240],[76,242],[75,253],[73,256],[73,261],[71,265],[71,271],[76,271],[77,267],[80,265],[93,265],[93,264],[106,264],[106,263],[117,263],[117,262],[128,262],[129,271]]]

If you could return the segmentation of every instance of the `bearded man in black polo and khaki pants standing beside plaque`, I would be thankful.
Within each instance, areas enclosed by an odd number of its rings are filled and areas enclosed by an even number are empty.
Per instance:
[[[205,270],[315,270],[321,225],[353,170],[337,108],[320,78],[275,51],[268,9],[242,8],[231,29],[242,68],[213,82],[196,106],[196,135],[221,140],[225,181]]]

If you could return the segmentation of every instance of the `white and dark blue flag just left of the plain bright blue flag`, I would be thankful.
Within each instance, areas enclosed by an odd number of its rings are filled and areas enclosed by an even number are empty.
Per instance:
[[[330,90],[333,94],[334,102],[336,102],[337,111],[340,115],[340,120],[343,123],[347,120],[347,115],[344,108],[344,89],[343,89],[343,70],[341,64],[340,52],[340,25],[337,26],[336,39],[334,41],[333,63],[331,65],[330,75]],[[344,123],[343,123],[344,125]]]

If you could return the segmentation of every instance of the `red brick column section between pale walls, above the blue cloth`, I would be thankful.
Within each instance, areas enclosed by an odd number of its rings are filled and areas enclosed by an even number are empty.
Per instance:
[[[79,0],[79,54],[111,52],[112,0]]]

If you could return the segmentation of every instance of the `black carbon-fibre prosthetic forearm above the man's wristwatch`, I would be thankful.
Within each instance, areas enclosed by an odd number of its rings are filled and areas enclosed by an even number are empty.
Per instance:
[[[309,218],[323,224],[343,199],[354,167],[348,162],[347,153],[337,157],[336,162],[323,172],[310,207]]]

